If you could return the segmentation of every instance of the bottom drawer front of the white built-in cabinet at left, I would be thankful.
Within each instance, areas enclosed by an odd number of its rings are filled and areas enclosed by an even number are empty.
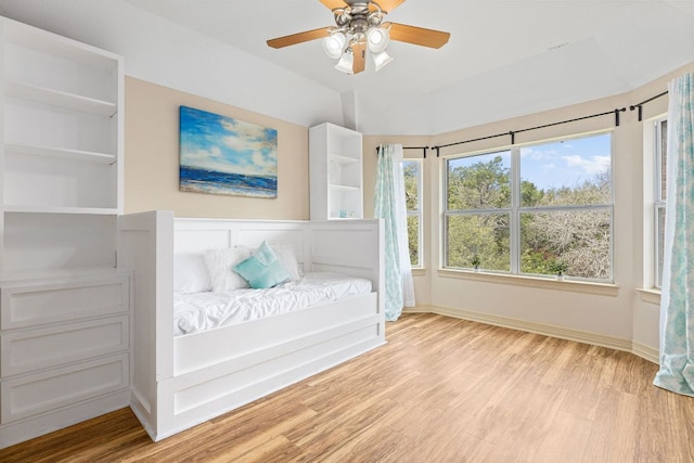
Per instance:
[[[129,386],[128,355],[3,381],[2,423],[73,406]]]

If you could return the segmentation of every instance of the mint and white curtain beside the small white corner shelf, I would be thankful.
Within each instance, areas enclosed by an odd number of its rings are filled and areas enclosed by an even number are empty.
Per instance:
[[[385,316],[387,321],[395,321],[402,313],[403,307],[414,307],[401,144],[385,144],[378,147],[374,216],[384,219]]]

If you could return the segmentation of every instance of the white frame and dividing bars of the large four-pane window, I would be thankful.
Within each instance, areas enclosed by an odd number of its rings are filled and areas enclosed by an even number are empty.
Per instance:
[[[609,203],[601,204],[601,205],[566,205],[566,206],[522,206],[520,205],[520,150],[527,146],[534,145],[542,145],[552,142],[560,141],[570,141],[575,139],[589,138],[589,137],[599,137],[609,134],[609,182],[611,182],[611,194],[609,194]],[[451,216],[460,216],[460,215],[480,215],[480,214],[507,214],[510,216],[510,271],[501,271],[501,270],[488,270],[485,269],[485,272],[488,273],[499,273],[499,274],[510,274],[513,276],[523,276],[523,278],[542,278],[542,279],[552,279],[553,275],[548,274],[538,274],[538,273],[523,273],[520,272],[520,216],[523,214],[528,213],[552,213],[552,211],[566,211],[566,210],[607,210],[609,214],[609,276],[607,279],[589,279],[589,278],[580,278],[580,276],[570,276],[570,280],[574,281],[586,281],[586,282],[596,282],[596,283],[614,283],[615,280],[615,250],[614,250],[614,235],[615,235],[615,159],[614,159],[614,130],[599,130],[593,132],[584,132],[577,133],[573,136],[560,137],[548,140],[537,140],[528,143],[518,143],[509,146],[497,146],[488,150],[474,151],[468,153],[459,153],[452,154],[448,156],[441,156],[441,270],[449,271],[470,271],[473,270],[468,267],[451,267],[448,265],[449,262],[449,242],[448,242],[448,218]],[[487,154],[494,153],[511,153],[511,172],[510,172],[510,188],[511,188],[511,206],[510,207],[500,207],[500,208],[491,208],[491,209],[462,209],[462,210],[450,210],[448,208],[448,189],[449,189],[449,160],[458,159],[463,157],[474,157],[481,156]]]

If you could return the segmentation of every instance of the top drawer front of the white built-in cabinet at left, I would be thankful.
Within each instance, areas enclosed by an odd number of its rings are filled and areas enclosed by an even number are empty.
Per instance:
[[[2,330],[78,320],[129,309],[128,278],[2,287]]]

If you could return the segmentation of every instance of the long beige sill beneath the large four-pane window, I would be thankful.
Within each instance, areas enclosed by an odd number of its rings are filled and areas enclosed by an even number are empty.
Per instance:
[[[472,270],[439,269],[438,276],[485,283],[511,284],[515,286],[538,287],[541,290],[567,291],[573,293],[593,294],[596,296],[617,297],[619,286],[609,283],[595,283],[573,280],[552,280],[503,273],[475,272]]]

